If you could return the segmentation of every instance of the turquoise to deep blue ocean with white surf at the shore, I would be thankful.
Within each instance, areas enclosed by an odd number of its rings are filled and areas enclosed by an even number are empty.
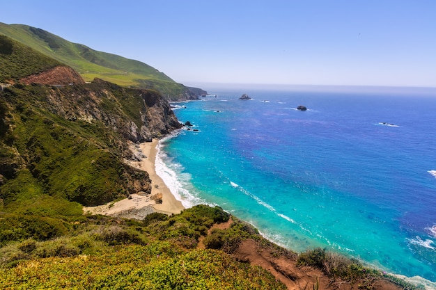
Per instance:
[[[209,93],[173,104],[194,126],[160,143],[157,172],[185,207],[216,204],[286,248],[436,281],[436,90]]]

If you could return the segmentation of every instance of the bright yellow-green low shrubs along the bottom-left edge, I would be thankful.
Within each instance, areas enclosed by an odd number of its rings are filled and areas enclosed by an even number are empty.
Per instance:
[[[223,252],[178,252],[162,242],[98,257],[39,259],[0,268],[0,277],[3,289],[286,289]]]

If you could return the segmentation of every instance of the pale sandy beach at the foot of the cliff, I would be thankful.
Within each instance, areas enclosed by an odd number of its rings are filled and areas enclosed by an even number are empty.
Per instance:
[[[148,172],[151,179],[151,193],[141,194],[134,193],[130,198],[125,198],[118,202],[109,202],[108,204],[97,207],[84,207],[85,214],[103,214],[106,216],[120,216],[123,218],[137,218],[142,220],[148,214],[160,212],[162,214],[180,214],[185,209],[180,200],[176,200],[161,177],[157,175],[155,162],[157,156],[158,139],[152,142],[141,143],[139,145],[131,144],[130,149],[134,152],[140,152],[144,156],[141,161],[125,161],[130,166],[139,170]],[[162,203],[156,203],[153,196],[162,194]]]

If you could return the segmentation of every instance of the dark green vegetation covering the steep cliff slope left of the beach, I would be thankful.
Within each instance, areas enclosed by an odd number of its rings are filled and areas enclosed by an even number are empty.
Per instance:
[[[145,172],[124,165],[123,151],[117,148],[125,142],[123,136],[101,122],[72,122],[46,111],[43,104],[52,93],[46,86],[14,86],[3,92],[1,111],[13,125],[8,125],[13,131],[0,135],[0,174],[8,179],[1,186],[4,204],[40,194],[102,204],[126,196],[134,179],[148,179]],[[118,102],[121,115],[127,105],[123,99]],[[140,120],[139,110],[136,118]],[[20,170],[22,161],[28,166]]]

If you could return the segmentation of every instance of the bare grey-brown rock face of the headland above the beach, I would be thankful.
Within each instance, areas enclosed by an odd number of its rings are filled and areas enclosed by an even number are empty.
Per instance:
[[[101,79],[51,88],[47,101],[49,111],[66,120],[103,122],[132,142],[150,141],[182,127],[169,102],[157,92],[122,88]]]

